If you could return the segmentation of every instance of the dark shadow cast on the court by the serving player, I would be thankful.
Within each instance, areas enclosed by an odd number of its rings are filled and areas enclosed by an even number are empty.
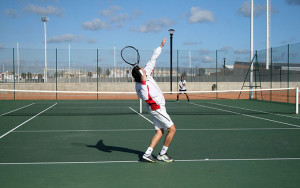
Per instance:
[[[139,157],[139,161],[143,161],[143,152],[134,150],[134,149],[129,149],[129,148],[124,148],[124,147],[118,147],[118,146],[108,146],[103,143],[103,140],[99,140],[96,145],[86,145],[86,147],[90,148],[96,148],[99,151],[102,152],[108,152],[111,153],[113,151],[119,151],[119,152],[124,152],[124,153],[132,153],[136,154]]]

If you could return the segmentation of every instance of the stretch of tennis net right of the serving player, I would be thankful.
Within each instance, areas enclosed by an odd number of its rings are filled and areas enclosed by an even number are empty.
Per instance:
[[[188,101],[188,95],[190,101]],[[298,88],[164,92],[170,114],[298,114]],[[177,95],[179,94],[179,101]],[[220,108],[221,107],[221,108]]]

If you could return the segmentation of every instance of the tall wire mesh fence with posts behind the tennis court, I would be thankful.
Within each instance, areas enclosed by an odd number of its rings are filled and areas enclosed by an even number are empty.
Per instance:
[[[299,86],[300,43],[269,51],[269,65],[266,50],[257,51],[253,60],[256,86]],[[153,50],[139,53],[140,66],[145,66]],[[177,90],[181,76],[189,90],[249,86],[248,50],[174,50],[172,60],[171,67],[170,51],[163,49],[153,72],[164,91]],[[132,89],[131,70],[121,59],[120,49],[48,49],[46,60],[43,49],[0,49],[0,87],[5,89],[128,91],[121,86]]]

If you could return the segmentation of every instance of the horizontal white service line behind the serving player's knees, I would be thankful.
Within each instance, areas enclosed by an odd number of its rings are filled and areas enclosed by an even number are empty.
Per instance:
[[[300,128],[228,128],[228,129],[176,129],[177,131],[267,131],[267,130],[300,130]],[[59,133],[59,132],[130,132],[153,131],[153,129],[104,129],[104,130],[25,130],[14,133]]]

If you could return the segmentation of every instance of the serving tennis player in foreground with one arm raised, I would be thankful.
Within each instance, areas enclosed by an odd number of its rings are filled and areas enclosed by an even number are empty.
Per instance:
[[[175,135],[176,128],[170,116],[167,114],[165,108],[165,98],[158,87],[156,81],[152,77],[152,71],[156,64],[156,59],[161,53],[162,47],[167,43],[167,38],[163,38],[161,45],[154,50],[150,61],[146,64],[145,68],[134,67],[132,76],[135,79],[135,89],[139,98],[147,103],[148,111],[152,116],[154,127],[156,130],[150,145],[143,155],[143,159],[149,162],[165,161],[173,162],[174,160],[168,156],[167,151]],[[167,129],[168,133],[165,137],[163,147],[155,159],[152,156],[152,151],[164,135],[164,130]]]

